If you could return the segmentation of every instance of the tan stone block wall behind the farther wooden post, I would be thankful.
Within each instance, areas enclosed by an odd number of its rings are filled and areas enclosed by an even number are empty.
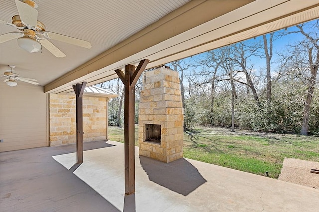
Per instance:
[[[83,141],[106,139],[107,98],[83,95]],[[50,94],[50,145],[76,143],[75,95]]]

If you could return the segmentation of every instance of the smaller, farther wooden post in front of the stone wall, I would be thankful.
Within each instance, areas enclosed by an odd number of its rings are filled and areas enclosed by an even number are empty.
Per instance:
[[[83,163],[83,92],[86,82],[73,85],[76,95],[76,163]]]

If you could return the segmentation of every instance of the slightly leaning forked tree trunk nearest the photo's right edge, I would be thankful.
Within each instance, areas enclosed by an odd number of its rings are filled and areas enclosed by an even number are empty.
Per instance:
[[[303,125],[302,125],[301,131],[300,131],[301,135],[308,134],[309,111],[310,111],[312,97],[314,94],[317,71],[318,71],[318,66],[319,66],[319,64],[318,64],[318,62],[319,62],[319,49],[317,50],[317,56],[316,56],[315,63],[313,63],[313,60],[312,60],[312,48],[309,49],[309,51],[308,51],[308,58],[309,58],[309,64],[310,64],[310,79],[309,79],[308,92],[307,92],[307,97],[306,97],[305,106],[304,106]]]

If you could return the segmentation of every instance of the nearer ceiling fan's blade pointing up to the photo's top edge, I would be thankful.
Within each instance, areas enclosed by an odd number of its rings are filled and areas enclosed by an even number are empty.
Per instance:
[[[38,10],[19,0],[15,0],[15,4],[22,23],[29,29],[32,27],[35,28],[38,23]]]

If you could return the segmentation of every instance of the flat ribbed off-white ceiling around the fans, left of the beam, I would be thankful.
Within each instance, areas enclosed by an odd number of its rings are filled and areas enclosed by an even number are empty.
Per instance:
[[[47,31],[89,41],[85,49],[60,41],[51,41],[66,54],[56,58],[46,49],[28,53],[16,39],[1,44],[1,74],[13,64],[23,77],[35,78],[40,85],[60,77],[84,62],[136,34],[189,0],[35,0],[38,20]],[[0,18],[12,22],[18,11],[14,0],[0,1]],[[0,34],[18,31],[1,24]]]

